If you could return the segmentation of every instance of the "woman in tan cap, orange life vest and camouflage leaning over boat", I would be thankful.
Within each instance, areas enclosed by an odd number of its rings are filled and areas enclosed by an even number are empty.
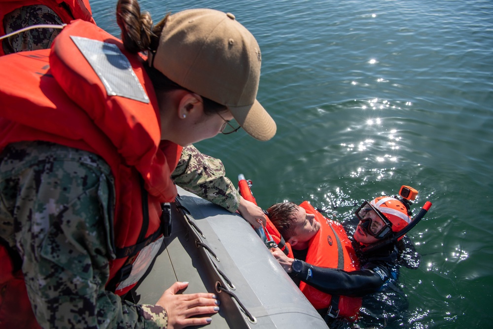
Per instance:
[[[184,328],[212,293],[124,299],[163,240],[181,146],[233,118],[258,140],[261,55],[235,16],[184,10],[152,25],[120,0],[123,43],[77,21],[51,50],[0,58],[0,321],[16,328]],[[149,51],[146,61],[138,54]],[[48,63],[49,62],[49,63]],[[28,299],[29,297],[29,299]]]

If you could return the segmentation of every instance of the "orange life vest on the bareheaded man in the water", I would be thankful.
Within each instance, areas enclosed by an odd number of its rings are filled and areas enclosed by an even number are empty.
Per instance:
[[[337,268],[345,271],[358,270],[359,261],[344,227],[334,220],[323,217],[308,201],[304,201],[300,207],[305,209],[308,214],[315,215],[320,223],[317,234],[309,241],[305,261],[319,267]],[[304,282],[301,282],[300,290],[316,309],[330,307],[334,298],[334,296],[321,292]],[[361,307],[361,298],[339,296],[337,307],[340,317],[356,317]]]

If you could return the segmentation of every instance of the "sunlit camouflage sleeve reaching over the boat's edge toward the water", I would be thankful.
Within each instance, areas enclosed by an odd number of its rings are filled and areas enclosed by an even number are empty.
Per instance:
[[[240,193],[225,176],[221,160],[201,153],[195,146],[183,147],[172,174],[175,183],[234,213],[240,205]]]

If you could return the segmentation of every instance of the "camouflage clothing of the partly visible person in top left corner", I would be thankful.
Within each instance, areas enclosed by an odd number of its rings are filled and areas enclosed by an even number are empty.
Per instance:
[[[63,24],[53,10],[42,4],[17,8],[6,14],[2,23],[5,34],[37,24]],[[13,35],[2,40],[3,52],[11,54],[19,51],[47,49],[60,31],[60,29],[39,28]]]

